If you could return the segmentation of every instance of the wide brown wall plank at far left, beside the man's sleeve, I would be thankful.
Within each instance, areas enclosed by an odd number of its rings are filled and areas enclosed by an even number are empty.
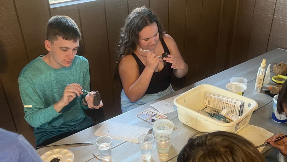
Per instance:
[[[28,64],[27,53],[13,1],[3,0],[0,4],[0,77],[8,100],[6,103],[9,103],[18,133],[34,145],[33,129],[24,119],[18,88],[20,71]]]

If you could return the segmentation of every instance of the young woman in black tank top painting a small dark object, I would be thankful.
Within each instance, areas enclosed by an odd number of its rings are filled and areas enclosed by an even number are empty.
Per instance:
[[[168,57],[160,58],[164,52]],[[123,113],[170,94],[171,74],[180,78],[188,70],[174,39],[164,34],[158,18],[146,7],[134,9],[127,17],[117,57]]]

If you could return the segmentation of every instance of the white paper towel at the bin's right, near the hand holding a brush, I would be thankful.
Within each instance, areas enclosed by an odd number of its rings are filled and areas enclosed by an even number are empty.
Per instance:
[[[244,138],[252,142],[255,146],[263,144],[265,140],[274,135],[274,133],[271,133],[264,128],[257,127],[254,125],[246,125],[237,134],[243,136]],[[259,152],[261,152],[263,148],[264,147],[258,148]]]

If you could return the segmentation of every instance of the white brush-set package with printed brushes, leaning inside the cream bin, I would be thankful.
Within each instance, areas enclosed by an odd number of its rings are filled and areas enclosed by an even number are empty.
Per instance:
[[[238,116],[243,114],[244,102],[232,98],[205,93],[204,104],[219,110],[226,109]]]

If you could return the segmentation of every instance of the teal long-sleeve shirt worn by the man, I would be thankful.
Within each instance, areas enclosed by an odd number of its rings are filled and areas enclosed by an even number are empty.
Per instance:
[[[54,104],[61,100],[67,84],[79,83],[90,91],[88,60],[75,56],[70,67],[54,69],[42,58],[32,60],[21,71],[19,89],[24,105],[26,121],[35,127],[36,145],[61,133],[83,129],[92,125],[92,120],[83,109],[83,94],[76,97],[60,113]]]

